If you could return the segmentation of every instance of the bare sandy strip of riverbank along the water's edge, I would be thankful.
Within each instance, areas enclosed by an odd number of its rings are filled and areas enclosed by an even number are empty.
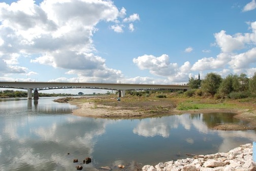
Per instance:
[[[146,118],[159,116],[155,113],[144,113],[138,112],[138,108],[133,108],[130,110],[125,110],[122,107],[112,107],[105,105],[96,105],[93,102],[74,102],[70,101],[70,104],[78,106],[78,109],[73,111],[73,115],[83,116],[83,117],[95,117],[95,118]],[[190,111],[179,111],[173,109],[165,115],[175,115],[183,113],[214,113],[214,112],[225,112],[225,113],[237,113],[235,118],[247,121],[248,124],[221,124],[213,127],[213,129],[220,130],[251,130],[256,128],[256,117],[254,113],[248,112],[246,110],[226,110],[226,109],[207,109],[207,110],[190,110]],[[161,115],[163,116],[163,115]]]

